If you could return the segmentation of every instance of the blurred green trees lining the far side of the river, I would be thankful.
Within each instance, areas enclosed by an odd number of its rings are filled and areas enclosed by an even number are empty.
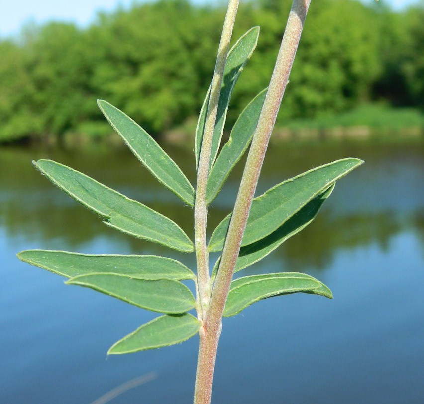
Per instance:
[[[234,38],[261,36],[231,101],[227,124],[268,85],[290,2],[241,4]],[[0,142],[110,133],[102,98],[151,134],[195,120],[209,86],[224,8],[160,0],[99,14],[91,26],[26,26],[0,41]],[[325,117],[385,101],[424,108],[424,3],[395,13],[378,4],[312,4],[280,110]],[[233,111],[233,112],[231,112]]]

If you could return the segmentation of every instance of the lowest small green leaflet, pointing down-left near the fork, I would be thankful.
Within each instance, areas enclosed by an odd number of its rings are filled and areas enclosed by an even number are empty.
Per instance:
[[[161,316],[114,343],[107,353],[128,354],[178,344],[196,335],[199,328],[197,318],[188,313]]]

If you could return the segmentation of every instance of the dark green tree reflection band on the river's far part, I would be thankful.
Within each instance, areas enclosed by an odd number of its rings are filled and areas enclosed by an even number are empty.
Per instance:
[[[192,153],[171,149],[183,170],[193,179]],[[356,153],[356,154],[354,154]],[[328,154],[332,155],[332,158]],[[389,158],[382,158],[382,154]],[[326,268],[334,253],[376,244],[387,251],[390,240],[400,232],[411,231],[423,246],[424,233],[424,153],[419,148],[348,151],[343,147],[308,150],[271,149],[261,178],[260,193],[281,180],[331,159],[360,156],[366,164],[337,184],[317,219],[308,228],[273,253],[290,270],[313,266]],[[109,229],[95,215],[56,189],[30,165],[31,157],[49,156],[68,164],[127,196],[147,204],[176,221],[191,237],[193,211],[160,186],[138,161],[126,151],[65,152],[60,150],[0,150],[0,225],[8,238],[18,238],[46,248],[76,250],[96,238],[106,238],[116,251],[130,253],[169,250]],[[290,169],[288,169],[290,167]],[[287,169],[287,170],[286,170]],[[238,172],[237,172],[238,171]],[[235,198],[240,167],[213,203],[210,228],[228,213]],[[49,247],[50,246],[50,247]],[[422,247],[423,248],[423,247]],[[424,249],[424,248],[423,248]],[[98,251],[102,253],[102,251]],[[172,254],[172,253],[171,253]]]

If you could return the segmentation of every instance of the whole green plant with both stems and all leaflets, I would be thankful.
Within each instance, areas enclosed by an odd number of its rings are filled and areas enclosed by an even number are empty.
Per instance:
[[[26,250],[18,258],[144,310],[161,313],[113,344],[108,354],[125,354],[179,344],[199,336],[194,403],[209,404],[222,318],[264,299],[306,293],[332,299],[330,289],[304,273],[233,274],[254,265],[308,226],[335,183],[363,161],[345,158],[310,168],[254,198],[269,138],[288,83],[311,0],[294,0],[269,87],[248,103],[221,145],[234,87],[259,40],[253,27],[230,48],[238,0],[229,0],[211,85],[195,131],[196,190],[180,167],[138,123],[105,100],[98,106],[135,157],[187,209],[194,207],[195,240],[178,223],[86,174],[51,160],[34,166],[54,185],[103,222],[128,236],[196,255],[197,268],[154,255],[82,254]],[[143,95],[140,94],[140,98]],[[250,145],[250,147],[249,147]],[[229,173],[248,150],[234,208],[210,234],[208,208]],[[209,239],[209,243],[207,240]],[[210,252],[221,252],[212,273]],[[191,283],[191,288],[182,281]],[[112,319],[110,319],[112,321]],[[264,335],[265,336],[265,335]]]

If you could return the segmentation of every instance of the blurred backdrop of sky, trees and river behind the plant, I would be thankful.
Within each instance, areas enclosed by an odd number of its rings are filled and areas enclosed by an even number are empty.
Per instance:
[[[259,43],[226,130],[268,85],[290,1],[240,4],[233,42]],[[192,255],[104,226],[31,166],[67,164],[176,221],[193,211],[140,166],[97,108],[154,136],[195,181],[193,136],[212,78],[223,2],[36,1],[0,5],[0,402],[190,403],[198,341],[106,357],[155,317],[17,260],[30,248]],[[267,299],[224,320],[212,402],[424,402],[424,2],[312,1],[257,195],[338,158],[365,164],[317,219],[239,275],[300,271],[334,293]],[[241,161],[210,209],[230,212]],[[212,257],[211,265],[214,263]],[[144,383],[141,383],[143,382]],[[108,401],[109,402],[109,401]]]

